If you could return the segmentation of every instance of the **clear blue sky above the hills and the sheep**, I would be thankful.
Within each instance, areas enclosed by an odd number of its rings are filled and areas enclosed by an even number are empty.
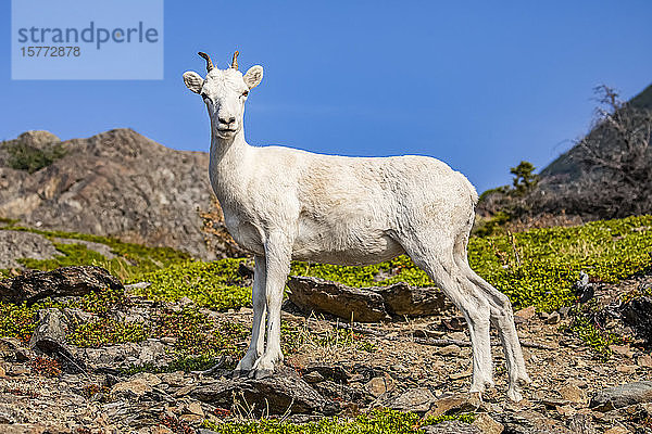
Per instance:
[[[37,13],[37,12],[35,12]],[[630,98],[652,82],[652,2],[165,1],[163,80],[11,80],[10,2],[0,5],[0,139],[130,127],[206,151],[209,119],[181,74],[197,51],[261,64],[251,144],[344,155],[424,154],[479,191],[542,167],[586,132],[592,88]]]

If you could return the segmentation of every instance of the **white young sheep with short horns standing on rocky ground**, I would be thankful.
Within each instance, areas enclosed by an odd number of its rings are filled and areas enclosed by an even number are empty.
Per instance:
[[[242,128],[262,66],[244,75],[237,55],[206,77],[186,72],[211,118],[210,178],[228,232],[255,257],[251,344],[236,374],[268,375],[283,361],[280,306],[290,260],[369,265],[408,254],[464,315],[473,344],[472,392],[493,385],[489,324],[498,328],[510,385],[529,383],[507,297],[468,266],[478,196],[460,173],[426,156],[347,157],[251,146]],[[265,314],[267,345],[265,346]]]

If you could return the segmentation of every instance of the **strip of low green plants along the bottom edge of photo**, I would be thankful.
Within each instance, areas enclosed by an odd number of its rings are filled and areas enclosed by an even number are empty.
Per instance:
[[[274,419],[226,423],[204,421],[202,426],[220,434],[412,434],[424,433],[423,426],[435,425],[446,420],[472,423],[474,416],[462,413],[429,417],[424,420],[412,412],[377,409],[352,420],[335,417],[302,424]]]

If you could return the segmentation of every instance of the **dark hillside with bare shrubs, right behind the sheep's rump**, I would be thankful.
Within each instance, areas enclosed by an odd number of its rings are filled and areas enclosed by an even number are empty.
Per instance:
[[[538,176],[527,162],[513,168],[514,186],[485,192],[480,216],[586,221],[652,214],[652,86],[630,101],[605,86],[595,95],[591,130]]]

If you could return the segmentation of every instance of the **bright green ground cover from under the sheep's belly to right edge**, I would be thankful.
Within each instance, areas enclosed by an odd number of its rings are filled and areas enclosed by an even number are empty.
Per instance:
[[[534,229],[486,238],[473,237],[468,259],[476,272],[505,293],[516,309],[536,306],[553,310],[574,301],[572,285],[585,270],[593,279],[617,282],[651,266],[652,216],[594,221],[573,228]],[[380,270],[396,276],[374,281]],[[298,263],[292,272],[353,286],[404,281],[434,285],[412,261],[400,256],[371,267]]]

